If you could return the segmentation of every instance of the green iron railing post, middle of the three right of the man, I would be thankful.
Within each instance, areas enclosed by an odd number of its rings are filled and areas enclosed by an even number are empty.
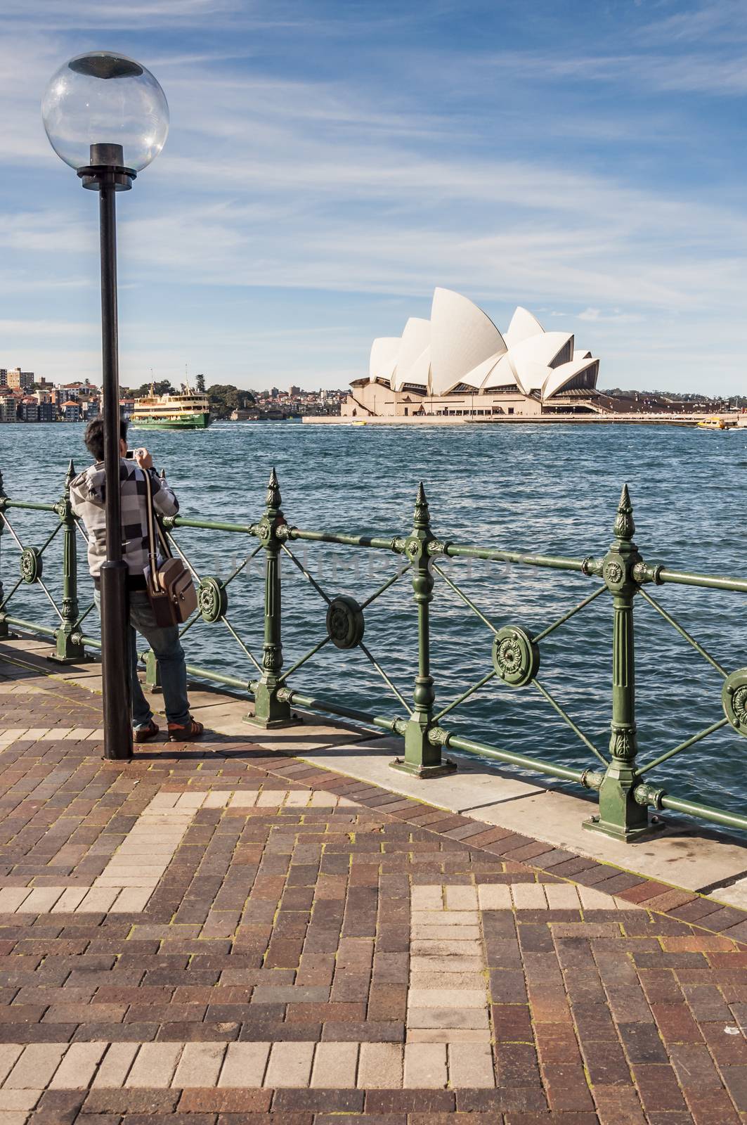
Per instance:
[[[431,675],[430,604],[433,601],[433,574],[429,546],[433,540],[431,516],[421,480],[415,500],[412,534],[405,541],[405,555],[412,564],[413,594],[417,606],[417,675],[413,688],[414,710],[405,727],[405,756],[396,758],[395,770],[417,777],[438,777],[453,773],[453,762],[441,757],[441,746],[429,735],[433,726],[435,692]]]

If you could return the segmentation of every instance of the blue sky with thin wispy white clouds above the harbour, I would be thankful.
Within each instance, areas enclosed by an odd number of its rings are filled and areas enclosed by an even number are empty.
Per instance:
[[[96,196],[39,104],[161,82],[118,197],[120,380],[345,387],[457,289],[600,387],[747,394],[744,0],[2,0],[0,367],[100,381]]]

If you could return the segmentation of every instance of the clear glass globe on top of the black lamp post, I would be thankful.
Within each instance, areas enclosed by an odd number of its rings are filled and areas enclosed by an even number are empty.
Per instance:
[[[42,118],[50,144],[76,171],[109,165],[140,172],[169,132],[169,105],[156,79],[134,58],[109,51],[90,51],[61,66],[46,88]]]

